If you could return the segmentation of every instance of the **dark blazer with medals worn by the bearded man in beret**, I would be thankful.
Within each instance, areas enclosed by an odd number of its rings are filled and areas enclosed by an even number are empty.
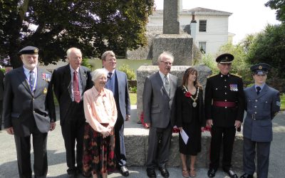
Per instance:
[[[50,122],[56,121],[50,79],[50,72],[38,68],[36,90],[31,93],[24,68],[16,68],[5,75],[3,100],[5,128],[13,127],[15,135],[28,136],[31,134],[34,118],[40,132],[50,130]]]

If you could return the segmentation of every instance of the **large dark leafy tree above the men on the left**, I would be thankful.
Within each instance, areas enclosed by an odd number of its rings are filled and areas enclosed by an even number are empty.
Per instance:
[[[44,64],[64,58],[72,46],[84,56],[121,53],[147,43],[153,0],[0,0],[0,56],[21,65],[17,52],[37,46]]]

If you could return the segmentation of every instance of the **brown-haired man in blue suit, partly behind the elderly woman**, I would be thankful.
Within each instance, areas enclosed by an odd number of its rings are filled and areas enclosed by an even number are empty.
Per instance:
[[[124,141],[124,121],[130,120],[130,97],[128,90],[127,75],[120,70],[115,69],[116,58],[113,51],[105,51],[102,57],[103,70],[108,76],[105,88],[113,91],[116,107],[118,110],[118,118],[115,122],[115,157],[120,173],[128,177],[129,171],[125,167],[125,141]]]

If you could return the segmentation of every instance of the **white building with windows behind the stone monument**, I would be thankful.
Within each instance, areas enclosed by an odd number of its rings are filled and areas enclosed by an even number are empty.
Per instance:
[[[191,34],[192,13],[195,13],[196,34]],[[180,11],[180,28],[190,33],[196,46],[205,53],[216,54],[220,46],[232,42],[233,33],[229,33],[229,16],[232,13],[197,7]],[[163,10],[155,11],[149,16],[147,29],[157,29],[163,26]],[[186,27],[186,28],[185,28]],[[195,38],[194,38],[195,36]]]

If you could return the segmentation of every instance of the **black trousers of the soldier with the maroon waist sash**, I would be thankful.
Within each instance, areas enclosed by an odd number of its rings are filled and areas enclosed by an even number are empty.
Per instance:
[[[235,127],[212,127],[211,130],[211,150],[209,168],[219,168],[219,153],[221,144],[223,143],[222,167],[224,171],[228,171],[232,167],[232,149],[234,145],[234,137],[236,135]]]

